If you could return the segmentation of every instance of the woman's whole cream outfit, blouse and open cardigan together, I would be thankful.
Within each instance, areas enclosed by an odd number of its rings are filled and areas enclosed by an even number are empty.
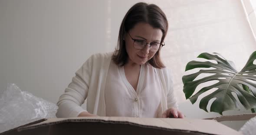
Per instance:
[[[85,111],[98,116],[107,113],[107,116],[155,117],[158,114],[161,117],[166,109],[177,107],[167,68],[142,65],[135,92],[126,80],[123,67],[113,63],[110,67],[112,54],[94,54],[75,72],[65,93],[59,97],[58,118],[77,117]],[[86,109],[81,106],[85,99]]]

